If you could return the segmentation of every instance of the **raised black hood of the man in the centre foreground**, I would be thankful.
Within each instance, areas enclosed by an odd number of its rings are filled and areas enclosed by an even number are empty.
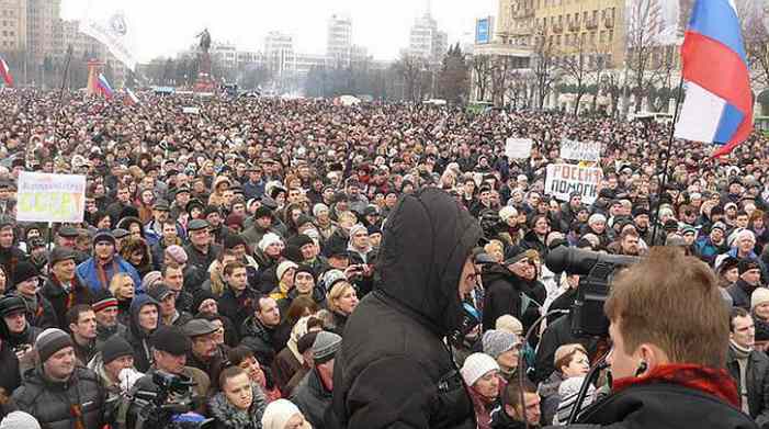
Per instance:
[[[460,276],[480,236],[478,222],[444,191],[405,195],[384,226],[378,289],[448,334],[460,323]]]

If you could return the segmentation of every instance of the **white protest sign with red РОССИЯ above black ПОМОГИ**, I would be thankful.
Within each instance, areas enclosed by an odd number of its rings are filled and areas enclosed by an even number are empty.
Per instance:
[[[572,192],[579,192],[584,203],[592,204],[598,197],[598,185],[602,179],[603,171],[600,168],[551,163],[547,166],[545,193],[568,201]]]

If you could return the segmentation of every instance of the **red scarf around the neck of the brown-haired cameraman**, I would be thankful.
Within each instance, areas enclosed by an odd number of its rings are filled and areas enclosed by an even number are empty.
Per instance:
[[[714,370],[689,363],[659,365],[643,376],[614,380],[612,392],[621,392],[633,385],[659,382],[709,393],[739,408],[737,384],[726,370]]]

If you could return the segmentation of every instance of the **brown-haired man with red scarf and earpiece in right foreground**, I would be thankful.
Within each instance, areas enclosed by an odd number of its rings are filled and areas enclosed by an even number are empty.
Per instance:
[[[578,422],[627,428],[755,428],[726,371],[728,313],[713,272],[672,248],[621,271],[604,312],[612,395]]]

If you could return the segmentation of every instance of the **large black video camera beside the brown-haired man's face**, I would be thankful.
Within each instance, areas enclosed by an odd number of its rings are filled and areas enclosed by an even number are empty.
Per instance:
[[[572,332],[577,337],[609,337],[609,318],[603,303],[617,269],[641,261],[638,257],[607,255],[559,246],[545,257],[555,272],[579,274],[577,298],[572,307]]]

